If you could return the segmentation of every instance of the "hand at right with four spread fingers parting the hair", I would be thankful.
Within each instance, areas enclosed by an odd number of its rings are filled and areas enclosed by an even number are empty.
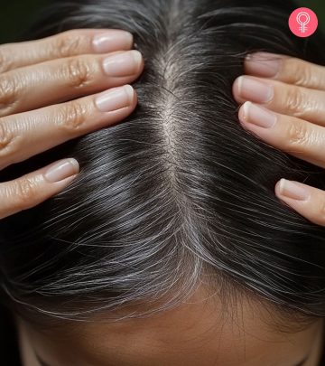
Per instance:
[[[325,67],[282,55],[247,57],[251,76],[235,80],[233,93],[243,127],[266,143],[325,168]],[[252,103],[254,102],[254,103]],[[325,225],[325,192],[281,179],[278,198],[306,219]]]

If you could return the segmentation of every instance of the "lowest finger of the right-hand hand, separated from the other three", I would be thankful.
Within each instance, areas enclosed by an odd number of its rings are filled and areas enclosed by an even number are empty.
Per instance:
[[[280,180],[275,194],[307,220],[325,226],[325,192],[309,185]]]

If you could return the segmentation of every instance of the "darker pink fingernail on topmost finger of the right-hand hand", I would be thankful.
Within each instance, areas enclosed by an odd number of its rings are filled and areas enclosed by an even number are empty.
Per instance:
[[[256,52],[246,56],[246,71],[256,76],[273,77],[280,70],[281,56],[268,52]]]

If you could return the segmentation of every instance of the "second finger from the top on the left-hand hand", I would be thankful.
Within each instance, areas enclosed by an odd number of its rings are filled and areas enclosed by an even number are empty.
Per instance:
[[[0,75],[0,116],[117,87],[144,70],[136,50],[46,61]]]

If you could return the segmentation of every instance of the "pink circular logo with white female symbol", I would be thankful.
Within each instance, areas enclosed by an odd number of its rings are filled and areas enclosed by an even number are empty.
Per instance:
[[[308,7],[300,7],[290,15],[289,27],[297,37],[309,37],[318,27],[317,15]]]

